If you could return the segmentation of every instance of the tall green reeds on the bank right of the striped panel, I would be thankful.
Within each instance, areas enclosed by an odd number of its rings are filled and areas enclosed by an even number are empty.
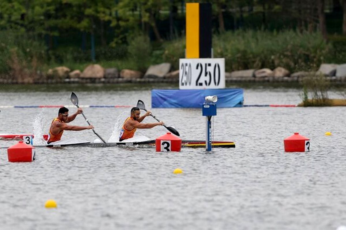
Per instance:
[[[214,57],[225,58],[226,71],[242,69],[312,70],[329,58],[332,51],[320,33],[242,31],[213,36]]]

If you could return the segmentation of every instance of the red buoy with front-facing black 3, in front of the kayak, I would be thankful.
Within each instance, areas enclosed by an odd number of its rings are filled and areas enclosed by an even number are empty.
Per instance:
[[[181,139],[172,135],[170,132],[164,134],[155,140],[156,152],[169,152],[176,151],[180,152]]]

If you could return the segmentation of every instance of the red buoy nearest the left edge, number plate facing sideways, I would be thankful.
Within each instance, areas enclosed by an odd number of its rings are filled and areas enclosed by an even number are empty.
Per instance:
[[[7,149],[7,156],[10,162],[31,162],[35,160],[35,148],[19,141]]]

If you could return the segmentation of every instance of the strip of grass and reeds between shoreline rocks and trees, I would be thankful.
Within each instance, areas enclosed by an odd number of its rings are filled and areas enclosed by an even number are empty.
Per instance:
[[[331,37],[333,38],[333,37]],[[45,73],[49,68],[66,66],[83,70],[91,64],[90,50],[63,47],[48,50],[42,38],[19,33],[0,34],[0,74],[13,76]],[[291,72],[316,70],[323,62],[343,63],[340,47],[345,39],[338,37],[325,42],[319,32],[299,33],[238,30],[213,35],[214,57],[226,59],[226,71],[241,69],[284,67]],[[335,43],[334,43],[335,42]],[[346,47],[346,46],[344,46]],[[97,47],[96,63],[104,68],[135,69],[145,71],[150,64],[170,62],[178,69],[179,58],[184,58],[185,38],[163,43],[151,43],[144,35],[131,38],[127,45]],[[346,50],[346,49],[345,49]]]

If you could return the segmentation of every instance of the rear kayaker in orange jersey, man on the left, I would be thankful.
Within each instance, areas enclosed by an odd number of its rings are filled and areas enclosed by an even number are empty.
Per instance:
[[[58,112],[58,117],[52,121],[51,128],[49,128],[49,138],[47,143],[54,141],[60,141],[64,130],[80,131],[84,129],[92,129],[93,126],[70,126],[66,123],[73,121],[78,114],[81,114],[83,110],[78,108],[77,112],[69,116],[69,109],[61,107]]]

